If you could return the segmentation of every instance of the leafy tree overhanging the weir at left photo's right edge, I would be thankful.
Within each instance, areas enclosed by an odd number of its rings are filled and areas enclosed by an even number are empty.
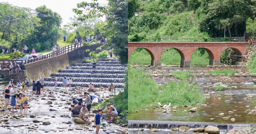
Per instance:
[[[88,18],[99,18],[105,15],[107,24],[104,36],[110,36],[110,39],[101,48],[107,46],[113,48],[113,52],[118,56],[120,63],[128,63],[128,0],[108,1],[108,6],[99,6],[95,2],[81,2],[77,5],[78,9],[73,9],[73,11],[77,15],[82,15],[82,18],[79,18],[80,21],[85,21]],[[85,11],[79,9],[85,9],[87,14],[83,14]],[[88,45],[87,43],[84,44]]]

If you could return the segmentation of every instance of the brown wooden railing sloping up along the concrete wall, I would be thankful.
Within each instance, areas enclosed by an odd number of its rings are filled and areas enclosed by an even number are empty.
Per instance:
[[[39,61],[39,60],[43,60],[43,59],[47,59],[47,58],[51,58],[51,57],[54,57],[54,56],[65,54],[67,52],[70,52],[70,51],[73,51],[77,48],[80,48],[81,46],[82,46],[82,42],[71,44],[71,45],[68,45],[68,46],[64,46],[63,48],[60,48],[60,49],[58,49],[54,52],[50,52],[47,55],[37,57],[37,58],[32,58],[30,60],[0,60],[0,67],[1,67],[1,69],[9,68],[9,65],[11,65],[11,63],[12,63],[12,66],[14,66],[14,68],[16,68],[15,63],[19,64],[20,67],[22,67],[22,65],[25,65],[25,64],[28,64],[28,63],[31,63],[31,62],[36,62],[36,61]]]

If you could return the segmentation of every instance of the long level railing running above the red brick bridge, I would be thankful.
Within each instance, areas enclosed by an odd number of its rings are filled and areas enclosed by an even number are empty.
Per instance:
[[[255,37],[256,38],[256,37]],[[197,39],[197,40],[204,40],[203,38],[163,38],[161,37],[161,41],[179,41],[179,40],[184,40],[184,41],[193,41],[194,39]],[[213,40],[222,40],[223,38],[210,38],[210,39],[213,39]],[[232,38],[229,38],[230,41],[245,41],[244,40],[244,37],[232,37]]]

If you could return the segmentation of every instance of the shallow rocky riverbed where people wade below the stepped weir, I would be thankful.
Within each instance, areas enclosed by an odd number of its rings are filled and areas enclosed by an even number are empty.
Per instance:
[[[4,91],[6,87],[1,86],[0,92],[0,133],[95,133],[95,125],[79,124],[81,120],[71,117],[72,98],[81,97],[87,88],[75,87],[72,89],[51,89],[46,87],[44,93],[40,96],[32,96],[32,90],[13,90],[11,94],[22,93],[28,98],[28,111],[20,112],[19,102],[16,100],[18,110],[12,110],[8,105],[7,112],[4,111]],[[90,95],[97,95],[103,100],[108,100],[114,95],[104,88],[98,88],[95,93],[90,92]],[[115,93],[118,94],[118,91]],[[114,104],[113,104],[114,105]],[[105,106],[106,107],[106,106]],[[96,113],[92,112],[90,120],[94,122]],[[106,128],[100,129],[99,133],[118,133],[126,134],[128,132],[127,124],[107,123],[106,113],[103,113],[101,122],[106,125]],[[117,122],[117,121],[114,121]]]

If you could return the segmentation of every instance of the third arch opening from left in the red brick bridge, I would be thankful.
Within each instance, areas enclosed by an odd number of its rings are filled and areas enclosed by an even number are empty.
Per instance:
[[[192,53],[190,60],[193,66],[213,65],[214,55],[207,48],[198,48]]]

